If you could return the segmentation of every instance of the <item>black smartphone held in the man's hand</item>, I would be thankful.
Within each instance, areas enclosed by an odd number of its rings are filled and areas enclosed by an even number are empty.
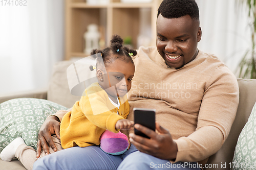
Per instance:
[[[134,124],[140,124],[156,131],[156,109],[134,108]],[[134,133],[145,138],[150,138],[134,128]]]

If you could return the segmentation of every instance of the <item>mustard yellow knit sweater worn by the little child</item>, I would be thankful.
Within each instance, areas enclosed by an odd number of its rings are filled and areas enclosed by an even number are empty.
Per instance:
[[[119,102],[118,109],[98,83],[89,86],[85,95],[74,104],[72,111],[65,114],[61,120],[62,148],[99,145],[99,138],[106,129],[114,133],[119,132],[119,129],[115,128],[117,120],[126,118],[130,111],[126,96],[119,98]]]

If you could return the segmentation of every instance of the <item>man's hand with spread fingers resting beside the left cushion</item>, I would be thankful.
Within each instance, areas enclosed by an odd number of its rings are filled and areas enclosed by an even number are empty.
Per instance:
[[[55,152],[57,151],[51,135],[56,134],[56,136],[60,139],[59,126],[60,126],[59,119],[56,116],[50,116],[46,118],[45,122],[42,124],[38,132],[38,140],[37,140],[37,148],[36,148],[37,158],[40,157],[42,149],[45,151],[46,155],[50,154],[48,144],[51,146],[53,151]]]

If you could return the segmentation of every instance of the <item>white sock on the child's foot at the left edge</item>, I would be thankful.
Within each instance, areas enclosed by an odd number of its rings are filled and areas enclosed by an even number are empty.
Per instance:
[[[4,148],[1,152],[0,157],[3,161],[11,161],[15,157],[15,152],[20,144],[25,143],[23,138],[18,137]]]

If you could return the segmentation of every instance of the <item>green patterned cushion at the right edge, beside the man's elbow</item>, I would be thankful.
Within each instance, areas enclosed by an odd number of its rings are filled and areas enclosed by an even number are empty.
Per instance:
[[[239,135],[232,169],[256,169],[256,103]]]

